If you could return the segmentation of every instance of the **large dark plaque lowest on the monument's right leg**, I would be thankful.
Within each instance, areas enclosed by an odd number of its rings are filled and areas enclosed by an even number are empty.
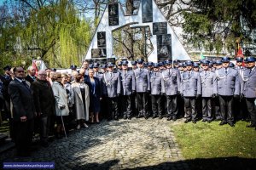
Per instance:
[[[157,36],[157,59],[158,61],[172,59],[171,34]]]

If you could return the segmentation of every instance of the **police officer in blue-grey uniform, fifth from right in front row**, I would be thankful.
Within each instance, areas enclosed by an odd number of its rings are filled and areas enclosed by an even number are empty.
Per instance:
[[[167,121],[177,120],[177,95],[180,94],[180,73],[172,68],[172,60],[166,60],[166,71],[162,72],[163,92],[166,94]]]

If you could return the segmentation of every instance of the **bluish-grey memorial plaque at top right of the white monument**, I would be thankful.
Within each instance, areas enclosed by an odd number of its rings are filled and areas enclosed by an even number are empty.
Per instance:
[[[142,0],[143,23],[153,22],[152,0]]]

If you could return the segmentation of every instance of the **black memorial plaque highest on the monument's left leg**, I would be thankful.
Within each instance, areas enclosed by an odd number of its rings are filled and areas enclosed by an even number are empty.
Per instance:
[[[119,3],[108,4],[108,25],[119,26]]]

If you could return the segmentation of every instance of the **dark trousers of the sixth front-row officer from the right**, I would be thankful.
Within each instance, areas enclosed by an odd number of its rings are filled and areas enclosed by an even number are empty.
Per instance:
[[[163,115],[162,101],[163,99],[161,95],[151,95],[151,104],[152,104],[152,111],[154,116]]]

